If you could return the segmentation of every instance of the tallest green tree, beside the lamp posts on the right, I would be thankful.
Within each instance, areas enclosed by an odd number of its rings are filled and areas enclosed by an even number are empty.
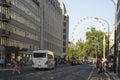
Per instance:
[[[104,35],[106,37],[107,42],[108,37],[103,31],[96,30],[94,27],[92,27],[90,31],[86,32],[86,44],[89,44],[87,46],[87,52],[89,56],[102,57]]]

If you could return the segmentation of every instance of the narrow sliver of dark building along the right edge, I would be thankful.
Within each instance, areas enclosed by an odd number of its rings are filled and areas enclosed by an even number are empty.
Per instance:
[[[117,0],[116,5],[116,16],[115,16],[115,53],[114,53],[114,63],[117,61],[118,68],[117,68],[118,76],[120,77],[120,0]]]

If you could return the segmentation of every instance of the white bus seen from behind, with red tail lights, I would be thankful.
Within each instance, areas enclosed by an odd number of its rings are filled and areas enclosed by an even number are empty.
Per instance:
[[[33,51],[32,67],[35,69],[55,68],[54,53],[49,50]]]

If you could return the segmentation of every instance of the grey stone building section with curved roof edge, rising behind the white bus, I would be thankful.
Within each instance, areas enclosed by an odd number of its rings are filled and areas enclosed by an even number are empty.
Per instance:
[[[61,0],[43,0],[43,5],[42,48],[52,50],[62,57],[68,47],[69,17],[65,6]]]

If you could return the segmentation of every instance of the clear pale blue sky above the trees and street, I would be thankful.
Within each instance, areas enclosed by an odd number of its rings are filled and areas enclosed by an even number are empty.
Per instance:
[[[112,0],[62,0],[62,2],[69,15],[69,41],[80,39],[85,41],[85,33],[91,27],[105,32],[108,32],[108,27],[110,31],[112,30],[116,8]]]

